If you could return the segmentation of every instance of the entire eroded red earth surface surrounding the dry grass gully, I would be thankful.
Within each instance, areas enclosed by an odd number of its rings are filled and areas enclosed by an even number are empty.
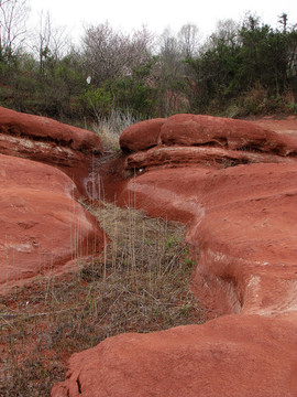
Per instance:
[[[95,255],[77,197],[106,197],[187,225],[213,318],[74,354],[52,397],[296,396],[296,117],[176,115],[120,143],[110,160],[89,131],[0,109],[1,292]]]

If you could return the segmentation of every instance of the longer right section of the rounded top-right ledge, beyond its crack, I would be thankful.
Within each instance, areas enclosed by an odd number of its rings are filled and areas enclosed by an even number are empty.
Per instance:
[[[164,144],[212,144],[231,150],[258,150],[280,155],[297,153],[297,139],[244,120],[201,115],[175,115],[161,129]]]

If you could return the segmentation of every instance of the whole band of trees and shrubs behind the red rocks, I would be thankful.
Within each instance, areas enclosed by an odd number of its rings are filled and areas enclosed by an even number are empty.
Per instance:
[[[105,25],[99,30],[102,43],[113,37],[119,49],[110,52],[101,43],[103,57],[95,45],[97,30],[86,33],[96,33],[91,41],[85,40],[89,47],[94,44],[94,57],[90,49],[59,57],[50,44],[38,60],[21,49],[0,49],[0,105],[96,121],[113,110],[138,119],[176,112],[296,114],[296,25],[287,14],[279,17],[280,29],[253,15],[241,25],[231,22],[222,21],[199,51],[185,52],[167,32],[158,53],[152,54],[147,32],[139,41]]]

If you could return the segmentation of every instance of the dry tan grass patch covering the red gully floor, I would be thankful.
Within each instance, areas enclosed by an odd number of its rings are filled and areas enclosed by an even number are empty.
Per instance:
[[[100,261],[0,300],[0,396],[48,396],[69,356],[122,332],[201,323],[184,228],[111,204],[89,207],[111,243]]]

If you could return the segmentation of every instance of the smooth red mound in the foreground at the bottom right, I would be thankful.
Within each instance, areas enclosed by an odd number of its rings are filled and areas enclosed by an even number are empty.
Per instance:
[[[289,316],[233,314],[127,333],[74,354],[67,380],[52,396],[295,396],[296,347]]]

